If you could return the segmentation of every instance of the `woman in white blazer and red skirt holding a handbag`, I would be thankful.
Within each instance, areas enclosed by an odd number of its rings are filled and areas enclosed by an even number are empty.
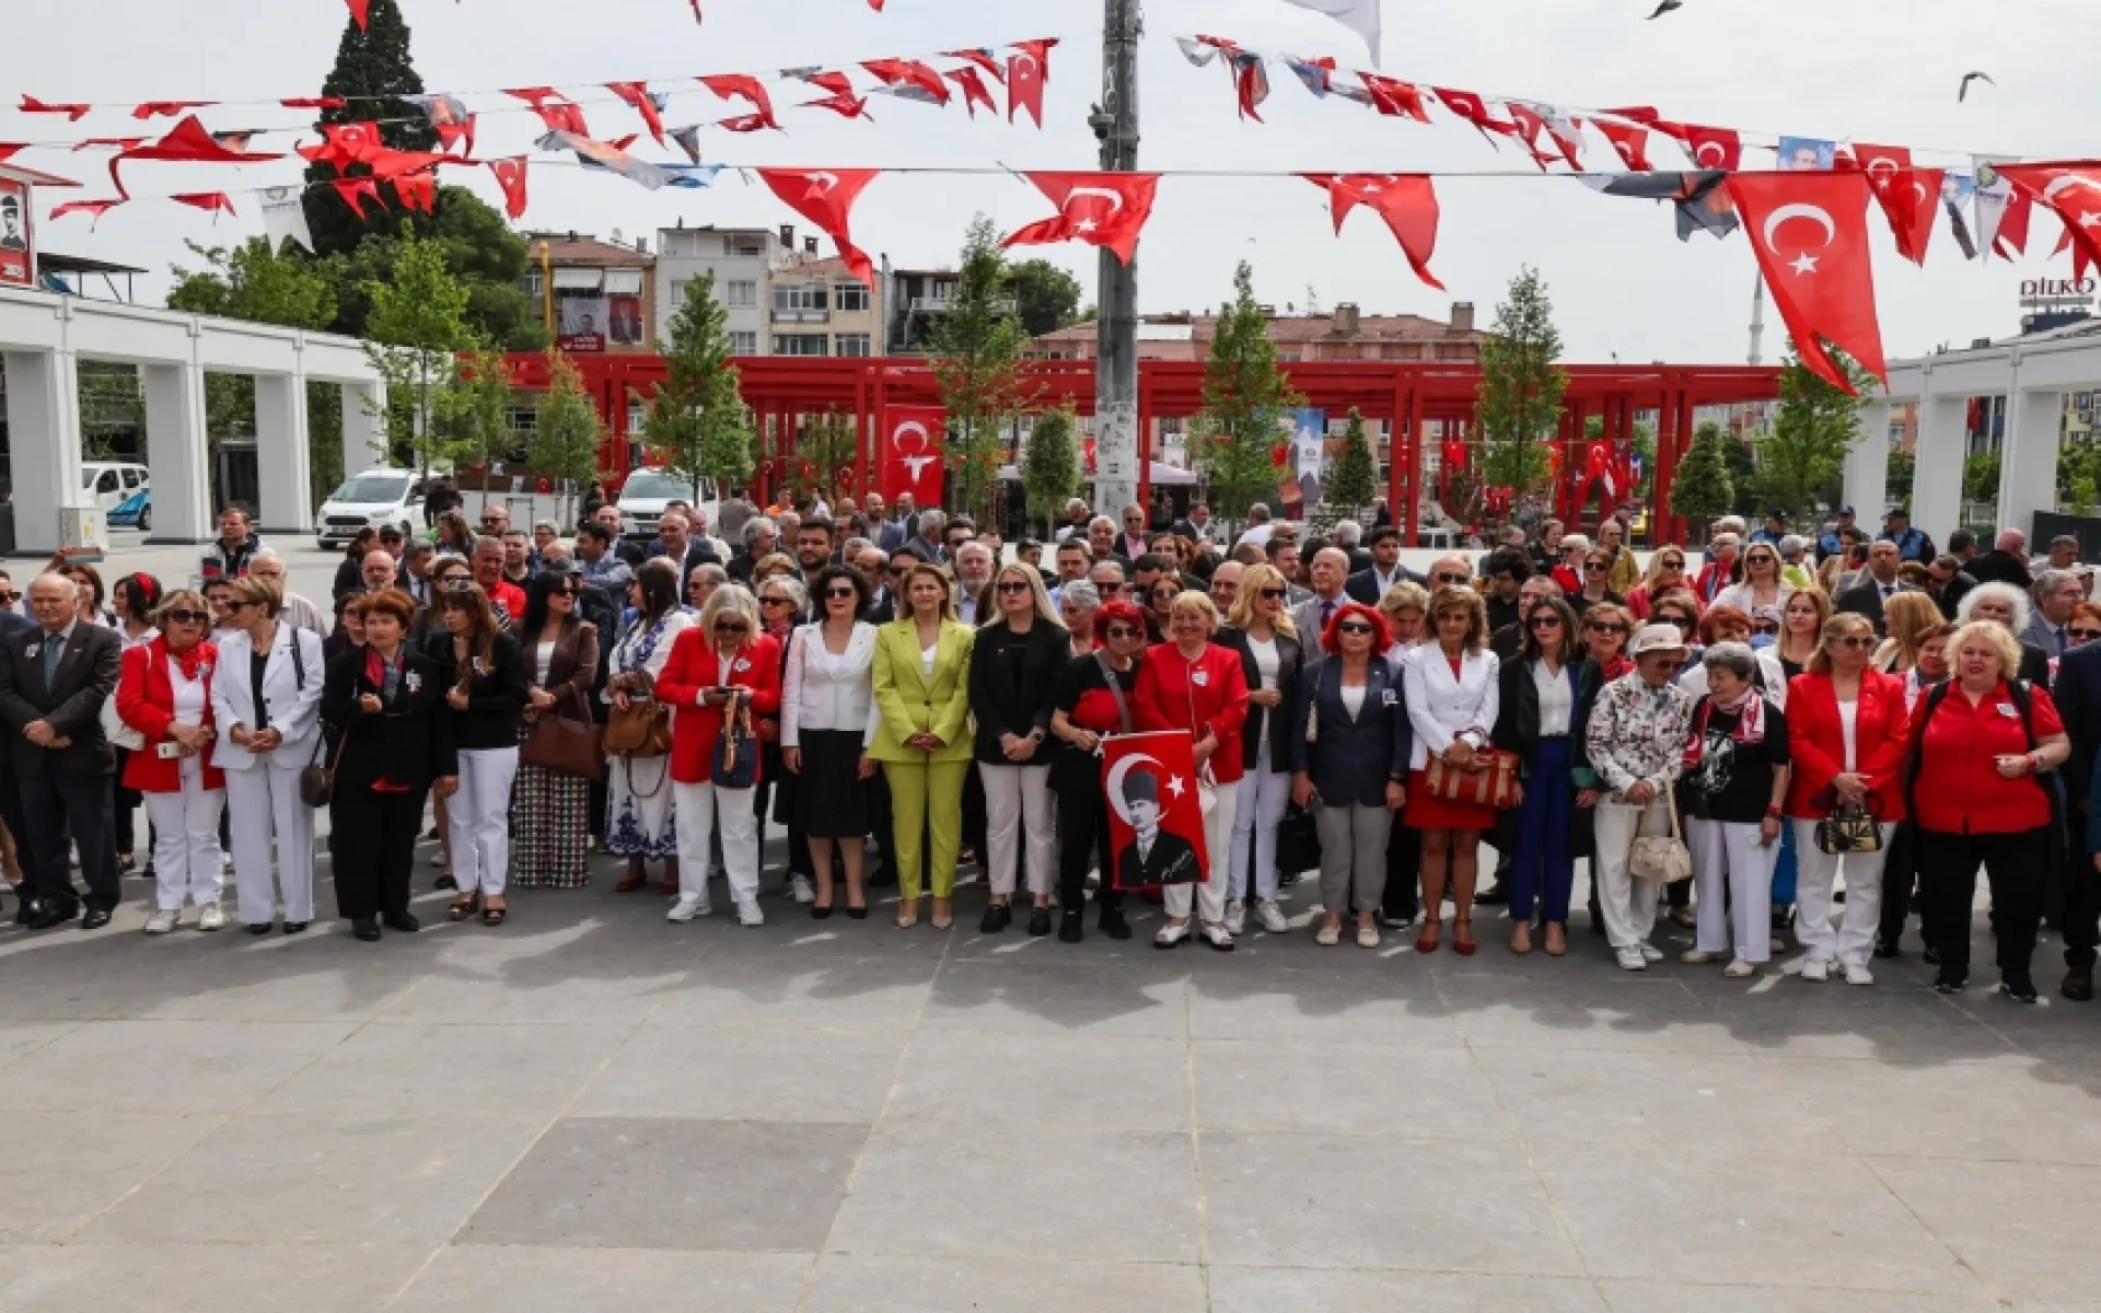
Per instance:
[[[1500,710],[1496,653],[1488,651],[1488,607],[1473,588],[1445,584],[1431,595],[1431,641],[1403,670],[1408,721],[1416,744],[1408,754],[1408,826],[1422,832],[1422,937],[1416,952],[1437,952],[1443,937],[1443,887],[1452,880],[1452,947],[1475,952],[1473,882],[1481,830],[1496,824],[1492,807],[1433,798],[1424,784],[1431,756],[1452,767],[1473,765],[1488,748]]]

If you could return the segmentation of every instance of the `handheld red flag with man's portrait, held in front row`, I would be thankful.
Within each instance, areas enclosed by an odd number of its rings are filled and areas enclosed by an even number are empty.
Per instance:
[[[1195,744],[1187,729],[1101,742],[1109,796],[1109,857],[1122,891],[1210,880]]]

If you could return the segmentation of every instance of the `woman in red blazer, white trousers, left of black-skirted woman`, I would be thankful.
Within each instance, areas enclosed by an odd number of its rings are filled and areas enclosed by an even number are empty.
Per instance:
[[[700,624],[672,643],[664,674],[656,681],[658,702],[672,708],[670,798],[679,836],[679,901],[670,920],[708,914],[708,834],[723,826],[723,866],[729,893],[737,899],[737,920],[765,924],[758,912],[758,817],[752,807],[752,771],[744,788],[716,781],[723,721],[750,712],[761,716],[782,706],[779,645],[758,628],[758,603],[748,588],[723,584],[708,599]]]

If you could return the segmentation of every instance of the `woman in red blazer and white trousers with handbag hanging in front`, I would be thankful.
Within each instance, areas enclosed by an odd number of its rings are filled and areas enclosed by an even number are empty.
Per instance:
[[[1824,622],[1809,668],[1788,683],[1788,819],[1794,821],[1796,924],[1809,950],[1805,981],[1845,971],[1849,985],[1872,985],[1868,958],[1882,916],[1882,859],[1904,819],[1904,758],[1910,752],[1910,710],[1904,681],[1870,668],[1874,626],[1866,616],[1838,613]],[[1874,853],[1834,857],[1817,849],[1817,821],[1840,805],[1866,807],[1878,821]],[[1830,924],[1832,882],[1845,870],[1845,920]]]

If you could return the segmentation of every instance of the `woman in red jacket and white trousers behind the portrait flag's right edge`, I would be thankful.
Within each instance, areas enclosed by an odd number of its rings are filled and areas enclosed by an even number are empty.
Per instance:
[[[1242,576],[1246,592],[1246,576]],[[1233,952],[1233,933],[1225,929],[1227,880],[1219,861],[1231,851],[1233,817],[1240,781],[1246,775],[1242,729],[1248,721],[1248,674],[1240,653],[1212,643],[1219,632],[1219,609],[1210,597],[1183,592],[1168,609],[1168,641],[1151,647],[1139,662],[1139,691],[1132,712],[1139,729],[1187,729],[1195,739],[1198,790],[1208,790],[1204,809],[1204,851],[1212,872],[1200,887],[1168,884],[1162,891],[1168,922],[1153,935],[1153,947],[1179,947],[1189,941],[1191,908],[1195,933],[1219,952]]]

